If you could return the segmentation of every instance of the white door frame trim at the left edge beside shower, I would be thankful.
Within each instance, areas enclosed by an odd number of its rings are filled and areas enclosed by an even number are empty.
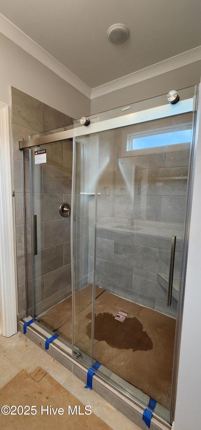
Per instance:
[[[0,103],[0,319],[7,338],[17,333],[9,107]]]

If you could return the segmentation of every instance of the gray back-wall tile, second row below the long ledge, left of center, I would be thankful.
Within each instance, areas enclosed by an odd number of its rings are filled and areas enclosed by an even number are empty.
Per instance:
[[[125,288],[133,287],[133,267],[112,261],[96,259],[96,276],[108,282],[115,282]]]

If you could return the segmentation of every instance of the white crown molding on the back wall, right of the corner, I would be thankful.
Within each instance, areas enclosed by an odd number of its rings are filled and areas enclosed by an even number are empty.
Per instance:
[[[125,88],[135,83],[153,78],[155,76],[170,72],[188,64],[195,63],[201,60],[201,46],[190,49],[189,51],[182,52],[174,57],[167,58],[164,61],[148,66],[144,69],[133,72],[129,75],[122,76],[111,82],[97,86],[92,89],[91,99],[100,97],[101,95],[108,94],[118,89]]]

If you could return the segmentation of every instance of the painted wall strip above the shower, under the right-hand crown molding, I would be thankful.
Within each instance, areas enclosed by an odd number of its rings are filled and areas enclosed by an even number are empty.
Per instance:
[[[91,114],[108,111],[146,98],[168,94],[171,89],[182,89],[200,82],[201,61],[156,76],[151,79],[118,89],[106,95],[93,98]]]

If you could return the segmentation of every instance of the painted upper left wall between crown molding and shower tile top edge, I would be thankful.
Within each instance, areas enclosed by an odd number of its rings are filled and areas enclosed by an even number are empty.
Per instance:
[[[90,114],[90,99],[0,34],[0,101],[11,105],[10,86],[73,118]]]

